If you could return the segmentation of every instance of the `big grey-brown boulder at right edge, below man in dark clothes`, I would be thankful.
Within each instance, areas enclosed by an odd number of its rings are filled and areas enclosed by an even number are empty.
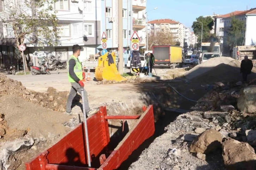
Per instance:
[[[256,85],[247,86],[240,91],[237,107],[247,113],[256,112]]]

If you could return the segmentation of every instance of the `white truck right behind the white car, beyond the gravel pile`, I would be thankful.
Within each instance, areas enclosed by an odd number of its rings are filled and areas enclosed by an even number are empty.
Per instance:
[[[221,45],[216,42],[217,42],[217,39],[212,38],[210,43],[202,43],[200,48],[199,58],[202,57],[202,53],[207,53],[207,52],[218,53],[221,56]]]

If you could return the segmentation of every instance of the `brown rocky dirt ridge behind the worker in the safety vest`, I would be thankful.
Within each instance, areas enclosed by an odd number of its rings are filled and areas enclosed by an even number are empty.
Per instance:
[[[4,74],[0,74],[0,95],[14,94],[31,103],[54,111],[65,112],[68,92],[58,92],[53,87],[49,87],[47,92],[40,93],[26,89],[20,81],[7,78]],[[76,101],[80,100],[77,95]]]

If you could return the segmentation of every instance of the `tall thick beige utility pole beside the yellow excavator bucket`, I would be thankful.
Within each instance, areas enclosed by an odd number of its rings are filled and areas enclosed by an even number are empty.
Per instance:
[[[118,72],[123,74],[123,0],[118,0]]]

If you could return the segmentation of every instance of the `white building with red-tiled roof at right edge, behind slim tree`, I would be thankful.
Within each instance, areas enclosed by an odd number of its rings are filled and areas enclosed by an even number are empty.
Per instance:
[[[250,10],[234,14],[234,17],[244,21],[245,31],[244,33],[244,43],[243,45],[256,45],[256,8],[252,8]],[[231,16],[224,18],[224,39],[223,46],[224,50],[230,50],[230,46],[227,43],[227,34],[228,30],[231,27]]]

